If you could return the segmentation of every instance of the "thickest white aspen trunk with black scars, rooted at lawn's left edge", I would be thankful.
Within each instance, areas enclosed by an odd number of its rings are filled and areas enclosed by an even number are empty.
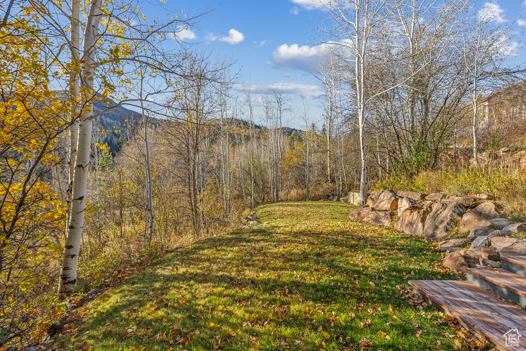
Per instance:
[[[89,14],[84,33],[84,61],[83,86],[86,87],[89,97],[93,94],[93,75],[95,73],[95,43],[98,35],[98,26],[101,15],[102,0],[93,0],[90,4]],[[90,145],[93,126],[93,102],[86,101],[85,113],[78,125],[77,152],[75,169],[72,182],[71,215],[66,228],[66,242],[60,266],[58,280],[58,294],[64,296],[73,291],[77,282],[77,263],[84,227],[84,214],[86,210],[86,184],[89,170]]]

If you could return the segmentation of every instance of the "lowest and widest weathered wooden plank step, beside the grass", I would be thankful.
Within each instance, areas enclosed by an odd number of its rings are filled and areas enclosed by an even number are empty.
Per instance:
[[[409,281],[415,290],[481,340],[504,351],[526,350],[526,312],[467,281]],[[518,329],[518,346],[508,346],[505,334]]]

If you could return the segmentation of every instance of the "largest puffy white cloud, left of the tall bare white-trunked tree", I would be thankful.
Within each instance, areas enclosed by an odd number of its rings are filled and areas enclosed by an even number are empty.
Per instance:
[[[327,50],[326,44],[317,46],[298,46],[298,44],[278,46],[272,54],[277,68],[299,69],[311,72],[316,69],[318,60]]]

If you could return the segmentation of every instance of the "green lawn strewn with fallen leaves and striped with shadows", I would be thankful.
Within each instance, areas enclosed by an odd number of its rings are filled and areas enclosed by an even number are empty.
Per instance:
[[[440,252],[349,221],[351,209],[332,202],[260,207],[270,224],[167,255],[87,307],[84,322],[54,346],[408,351],[469,343],[409,292],[411,278],[461,278],[444,276]]]

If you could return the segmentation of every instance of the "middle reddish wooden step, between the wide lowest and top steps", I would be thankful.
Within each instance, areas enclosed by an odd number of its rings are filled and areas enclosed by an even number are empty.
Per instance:
[[[526,305],[526,278],[501,268],[470,268],[468,282],[510,301]]]

